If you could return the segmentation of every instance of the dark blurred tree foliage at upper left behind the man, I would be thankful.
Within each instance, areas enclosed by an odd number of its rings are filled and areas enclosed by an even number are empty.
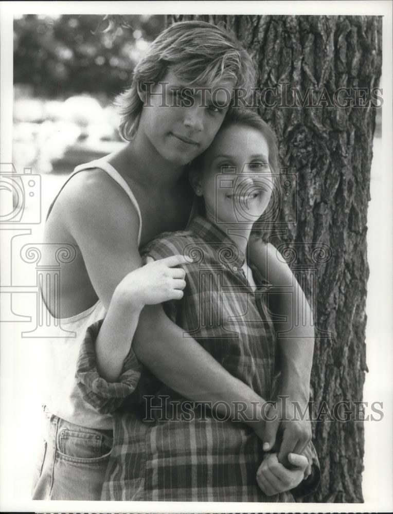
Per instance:
[[[164,23],[163,15],[23,15],[14,20],[14,84],[45,98],[116,95]]]

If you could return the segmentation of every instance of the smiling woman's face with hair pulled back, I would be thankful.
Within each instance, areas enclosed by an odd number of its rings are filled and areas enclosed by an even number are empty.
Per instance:
[[[222,129],[203,159],[201,192],[206,217],[213,223],[253,224],[273,191],[269,146],[256,128]]]

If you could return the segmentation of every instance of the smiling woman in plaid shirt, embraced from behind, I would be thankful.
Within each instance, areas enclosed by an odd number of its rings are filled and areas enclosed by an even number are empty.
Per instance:
[[[299,493],[305,477],[302,494],[316,486],[312,445],[309,462],[291,453],[292,467],[285,468],[277,455],[263,454],[251,428],[234,422],[235,410],[246,406],[234,401],[225,405],[225,415],[211,403],[203,410],[200,402],[155,380],[131,350],[144,305],[170,300],[164,308],[185,331],[181,344],[187,345],[192,334],[260,397],[259,409],[272,399],[275,333],[265,283],[247,265],[246,251],[253,223],[274,188],[276,155],[274,135],[256,113],[227,115],[192,165],[191,182],[203,198],[205,215],[195,216],[186,230],[149,243],[142,252],[156,262],[125,277],[99,333],[101,322],[88,330],[78,362],[80,389],[100,412],[114,410],[114,447],[102,500],[285,502],[294,501],[292,492]],[[194,260],[168,270],[178,263],[177,255]]]

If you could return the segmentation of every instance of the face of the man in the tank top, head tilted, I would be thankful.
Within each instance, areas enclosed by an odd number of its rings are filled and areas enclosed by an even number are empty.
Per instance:
[[[184,88],[189,89],[189,100],[182,104],[180,90]],[[206,86],[185,84],[168,71],[151,88],[138,132],[147,136],[164,159],[187,164],[208,148],[224,120],[233,84],[223,81],[215,88],[216,93],[206,90]]]

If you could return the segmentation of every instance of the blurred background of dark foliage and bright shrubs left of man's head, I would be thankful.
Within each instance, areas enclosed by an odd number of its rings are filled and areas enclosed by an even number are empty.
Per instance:
[[[112,100],[164,22],[163,15],[15,17],[15,168],[68,174],[116,150]]]

